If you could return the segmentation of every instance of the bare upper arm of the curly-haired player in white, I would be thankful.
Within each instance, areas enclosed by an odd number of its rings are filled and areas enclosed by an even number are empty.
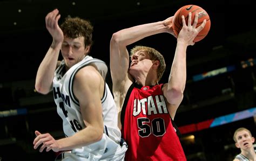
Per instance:
[[[85,73],[83,70],[80,69],[75,76],[73,92],[79,101],[85,125],[103,127],[100,75],[88,71]]]

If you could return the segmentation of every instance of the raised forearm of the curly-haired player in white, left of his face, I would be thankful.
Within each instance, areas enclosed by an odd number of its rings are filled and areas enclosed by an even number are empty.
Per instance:
[[[60,47],[61,43],[52,44],[52,46],[46,53],[43,61],[39,65],[35,84],[35,88],[39,93],[47,94],[51,90],[52,80],[57,66]]]

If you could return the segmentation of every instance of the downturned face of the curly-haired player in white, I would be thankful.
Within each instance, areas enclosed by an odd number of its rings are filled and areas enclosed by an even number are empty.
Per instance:
[[[73,65],[83,60],[87,52],[88,50],[84,46],[84,37],[75,39],[64,37],[62,56],[68,68],[71,68]]]

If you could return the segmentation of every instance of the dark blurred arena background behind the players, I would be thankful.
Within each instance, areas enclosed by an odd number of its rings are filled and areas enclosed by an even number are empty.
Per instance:
[[[62,120],[52,93],[35,92],[39,64],[51,45],[45,16],[57,8],[66,16],[88,19],[94,26],[91,55],[109,65],[114,32],[164,20],[184,5],[205,9],[211,19],[207,36],[187,48],[187,83],[174,122],[187,160],[232,160],[233,133],[245,127],[256,137],[256,26],[254,0],[222,1],[0,1],[0,160],[54,160],[56,153],[33,149],[34,131],[63,137]],[[134,45],[156,48],[165,57],[167,82],[176,38],[168,33]],[[61,59],[61,57],[59,58]],[[112,81],[107,75],[110,88]]]

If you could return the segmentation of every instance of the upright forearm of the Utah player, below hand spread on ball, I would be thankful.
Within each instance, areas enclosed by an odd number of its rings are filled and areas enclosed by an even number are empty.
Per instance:
[[[186,85],[186,44],[177,43],[169,76],[167,95],[171,104],[180,102]]]

